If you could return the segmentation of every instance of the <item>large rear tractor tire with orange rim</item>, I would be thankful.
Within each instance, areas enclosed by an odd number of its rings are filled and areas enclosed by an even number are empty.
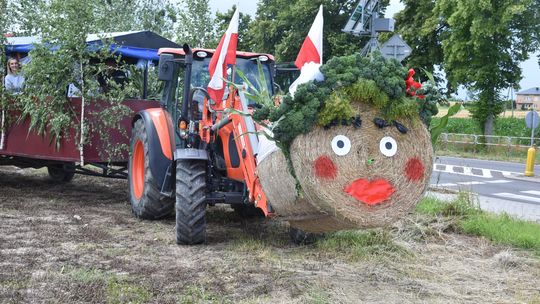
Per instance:
[[[140,145],[140,146],[139,146]],[[138,218],[156,220],[174,211],[174,201],[160,194],[150,170],[148,133],[142,119],[133,126],[128,163],[129,201]]]

